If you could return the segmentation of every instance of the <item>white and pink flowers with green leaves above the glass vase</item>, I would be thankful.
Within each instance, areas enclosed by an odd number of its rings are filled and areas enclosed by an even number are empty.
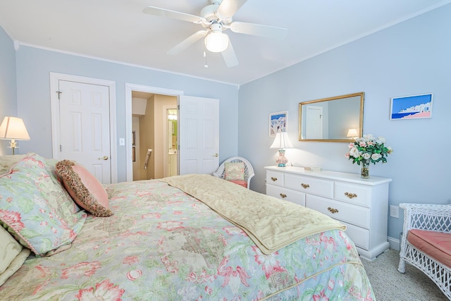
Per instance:
[[[370,163],[376,164],[379,161],[387,162],[388,154],[393,152],[391,147],[385,146],[384,137],[374,137],[371,134],[364,135],[362,138],[357,138],[349,145],[349,152],[346,154],[347,158],[352,160],[352,164],[368,165]]]

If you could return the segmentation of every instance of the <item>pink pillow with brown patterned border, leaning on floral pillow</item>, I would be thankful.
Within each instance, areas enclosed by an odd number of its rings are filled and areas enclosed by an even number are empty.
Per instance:
[[[94,216],[111,216],[105,188],[87,169],[70,160],[59,161],[56,171],[73,200]]]

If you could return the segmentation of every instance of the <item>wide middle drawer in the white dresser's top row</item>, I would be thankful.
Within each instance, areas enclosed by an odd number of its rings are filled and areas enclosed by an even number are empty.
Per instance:
[[[285,187],[333,199],[333,181],[285,173]]]

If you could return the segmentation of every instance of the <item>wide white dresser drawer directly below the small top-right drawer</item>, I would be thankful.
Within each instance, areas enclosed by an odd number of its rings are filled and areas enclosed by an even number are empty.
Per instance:
[[[333,219],[352,223],[355,226],[369,229],[370,211],[369,208],[358,207],[345,202],[337,202],[332,199],[317,197],[316,195],[306,195],[306,207],[320,211]]]

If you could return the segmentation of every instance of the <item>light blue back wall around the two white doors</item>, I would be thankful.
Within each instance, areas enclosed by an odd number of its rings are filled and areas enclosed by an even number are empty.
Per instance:
[[[130,55],[133,51],[130,49]],[[116,82],[117,135],[125,137],[125,83],[181,90],[185,95],[220,101],[220,161],[237,154],[238,89],[235,85],[174,75],[147,68],[21,46],[17,56],[18,113],[27,121],[30,142],[20,153],[37,152],[51,157],[51,111],[49,73],[65,73]],[[199,66],[199,68],[203,68]],[[125,147],[118,149],[118,181],[126,180]]]

